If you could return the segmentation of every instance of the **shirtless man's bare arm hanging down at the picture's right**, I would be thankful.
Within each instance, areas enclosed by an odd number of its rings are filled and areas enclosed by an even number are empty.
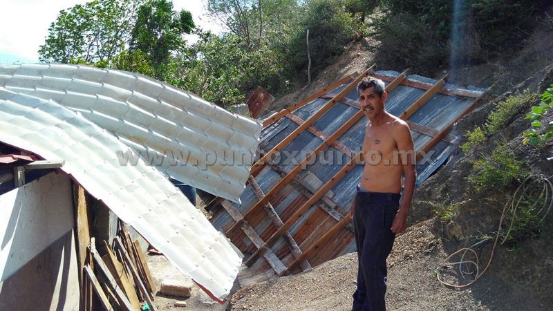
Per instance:
[[[402,202],[391,227],[392,232],[400,234],[404,232],[407,227],[407,214],[409,214],[409,207],[411,207],[411,200],[413,200],[413,193],[415,192],[415,178],[417,177],[417,171],[415,170],[417,157],[413,144],[413,137],[411,136],[411,130],[409,130],[409,126],[407,124],[401,125],[396,142],[397,150],[400,151],[400,154],[406,154],[406,156],[402,156],[400,158],[400,164],[402,165],[405,173],[405,185],[402,194]]]

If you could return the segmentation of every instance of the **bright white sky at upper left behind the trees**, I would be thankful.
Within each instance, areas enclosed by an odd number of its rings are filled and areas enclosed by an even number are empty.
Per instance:
[[[60,10],[91,0],[2,0],[0,4],[0,64],[38,62],[50,23]],[[205,16],[207,0],[173,0],[174,10],[192,13],[194,23],[204,30],[221,32],[222,27]],[[191,38],[187,38],[191,41]]]

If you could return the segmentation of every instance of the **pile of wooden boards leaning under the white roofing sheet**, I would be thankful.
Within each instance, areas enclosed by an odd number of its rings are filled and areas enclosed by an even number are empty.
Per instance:
[[[156,285],[142,248],[131,238],[126,225],[120,220],[113,246],[102,241],[98,247],[104,250],[103,256],[96,249],[95,238],[91,238],[83,267],[84,310],[156,310]]]

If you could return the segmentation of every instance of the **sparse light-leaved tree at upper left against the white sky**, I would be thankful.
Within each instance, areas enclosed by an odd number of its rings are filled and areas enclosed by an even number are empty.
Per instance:
[[[94,0],[61,10],[39,48],[41,62],[107,62],[129,41],[142,0]]]

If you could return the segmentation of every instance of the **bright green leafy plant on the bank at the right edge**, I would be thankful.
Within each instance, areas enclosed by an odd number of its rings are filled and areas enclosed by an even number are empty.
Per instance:
[[[530,142],[534,146],[543,146],[545,142],[553,139],[553,121],[543,126],[542,120],[547,111],[553,109],[553,84],[540,95],[541,102],[538,106],[532,106],[532,112],[525,119],[532,121],[532,129],[524,132],[523,143]],[[543,126],[543,129],[539,130]]]

